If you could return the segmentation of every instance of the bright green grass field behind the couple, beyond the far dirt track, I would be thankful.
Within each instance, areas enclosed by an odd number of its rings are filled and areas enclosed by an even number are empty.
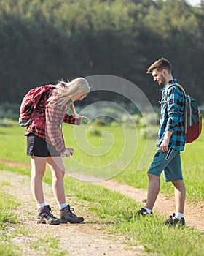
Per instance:
[[[139,136],[138,138],[134,137],[133,129],[126,127],[124,132],[121,127],[96,127],[97,131],[105,134],[102,139],[101,135],[89,134],[85,138],[85,132],[75,132],[74,129],[74,126],[71,125],[63,126],[66,146],[74,148],[74,157],[64,159],[66,170],[105,178],[114,177],[133,187],[147,189],[146,170],[152,161],[156,140],[149,140],[149,154],[147,154],[149,161],[146,163],[146,167],[138,170],[146,140],[139,138]],[[86,127],[84,127],[84,131],[85,129]],[[26,156],[24,132],[25,129],[17,125],[0,127],[1,159],[12,162],[30,162],[29,157]],[[132,138],[136,138],[137,141],[133,141]],[[203,200],[204,198],[203,142],[204,138],[201,135],[194,143],[187,144],[185,151],[181,153],[184,180],[187,185],[187,199]],[[127,148],[127,152],[121,157],[124,147]],[[132,157],[134,153],[135,156]],[[129,165],[123,170],[122,167],[128,163]],[[161,181],[161,192],[172,194],[173,187],[170,184],[165,184],[163,178]]]

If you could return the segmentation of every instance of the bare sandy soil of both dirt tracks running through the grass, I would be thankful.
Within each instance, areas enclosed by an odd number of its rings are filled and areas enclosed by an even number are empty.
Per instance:
[[[7,163],[9,164],[9,163]],[[80,178],[80,177],[79,177]],[[7,182],[4,182],[7,181]],[[17,214],[23,220],[23,225],[31,231],[32,238],[17,236],[13,239],[15,244],[23,245],[29,243],[34,237],[43,236],[47,233],[52,234],[53,237],[60,239],[60,249],[68,249],[68,255],[145,255],[144,247],[128,246],[125,244],[125,238],[118,235],[106,233],[103,230],[103,225],[39,225],[36,224],[36,205],[31,195],[30,178],[28,176],[11,173],[9,171],[1,171],[0,184],[1,189],[4,189],[8,194],[15,195],[20,200],[20,207],[17,208]],[[121,184],[117,181],[95,181],[93,184],[101,185],[112,191],[117,191],[122,195],[126,195],[135,199],[137,202],[144,202],[146,200],[146,190],[136,189],[126,184]],[[50,205],[56,205],[55,199],[52,195],[52,188],[44,184],[45,198],[49,198]],[[79,212],[78,206],[74,206]],[[154,212],[164,214],[166,217],[172,214],[174,206],[173,196],[159,195],[154,206]],[[58,209],[52,210],[55,216],[58,216]],[[80,214],[79,214],[80,215]],[[85,219],[90,219],[84,215]],[[185,219],[187,226],[195,227],[200,232],[204,233],[204,202],[188,202],[185,206]],[[12,227],[11,227],[12,230]],[[28,246],[23,246],[23,255],[37,255],[34,249]],[[38,252],[39,253],[39,252]]]

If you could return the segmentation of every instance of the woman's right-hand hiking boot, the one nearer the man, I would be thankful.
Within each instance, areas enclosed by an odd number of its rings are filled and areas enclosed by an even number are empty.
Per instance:
[[[83,217],[78,217],[71,211],[74,211],[74,208],[71,208],[69,205],[60,210],[61,223],[81,223],[84,221]]]

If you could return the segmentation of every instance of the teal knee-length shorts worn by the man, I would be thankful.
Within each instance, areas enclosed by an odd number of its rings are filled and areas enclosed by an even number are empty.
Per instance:
[[[169,148],[167,152],[163,153],[157,149],[147,173],[160,177],[162,171],[164,171],[165,182],[183,179],[180,151]]]

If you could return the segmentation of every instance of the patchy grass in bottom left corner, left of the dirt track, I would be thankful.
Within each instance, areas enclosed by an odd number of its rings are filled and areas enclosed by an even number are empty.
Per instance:
[[[8,195],[7,192],[4,192],[4,186],[11,186],[11,184],[9,181],[2,181],[0,184],[0,255],[20,256],[22,255],[21,246],[24,249],[27,248],[30,252],[31,250],[38,252],[35,255],[68,255],[67,249],[60,249],[59,238],[53,238],[52,234],[49,233],[35,238],[34,234],[25,225],[21,224],[21,220],[15,211],[20,206],[20,198]],[[12,232],[9,227],[11,227]],[[20,241],[25,238],[25,241],[21,244],[14,243],[13,239],[18,237],[20,237]],[[26,241],[29,241],[29,243]]]

